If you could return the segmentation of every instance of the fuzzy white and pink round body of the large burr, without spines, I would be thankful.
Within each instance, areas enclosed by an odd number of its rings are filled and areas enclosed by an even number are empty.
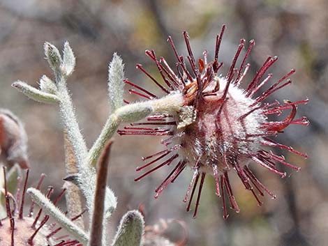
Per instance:
[[[200,171],[212,174],[212,165],[216,164],[218,171],[230,169],[231,165],[223,160],[223,152],[227,158],[237,159],[241,166],[248,164],[246,156],[258,149],[263,133],[260,126],[265,117],[260,110],[250,112],[254,100],[246,98],[242,89],[231,85],[227,94],[228,100],[221,101],[226,79],[218,79],[220,90],[215,95],[209,95],[197,103],[195,122],[187,125],[180,139],[183,146],[181,152],[190,166],[200,167]],[[229,166],[228,166],[229,165]]]

